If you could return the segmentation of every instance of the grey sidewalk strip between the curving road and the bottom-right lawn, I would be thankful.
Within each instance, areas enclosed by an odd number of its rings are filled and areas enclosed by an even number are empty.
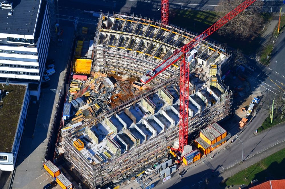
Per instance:
[[[268,156],[274,154],[275,152],[282,150],[284,148],[284,145],[285,145],[285,141],[280,141],[278,144],[275,144],[274,146],[266,148],[263,151],[259,152],[258,154],[255,154],[247,158],[243,163],[237,163],[236,165],[221,171],[221,173],[218,173],[214,177],[209,178],[209,185],[217,186],[215,188],[224,188],[224,187],[220,187],[219,185],[220,180],[225,180],[235,175],[239,171],[242,171],[243,169],[261,161],[262,159],[267,158]],[[237,188],[239,188],[239,185],[233,186],[233,189],[237,189]]]

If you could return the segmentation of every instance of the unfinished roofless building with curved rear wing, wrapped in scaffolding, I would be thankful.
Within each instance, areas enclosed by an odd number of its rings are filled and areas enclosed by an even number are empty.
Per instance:
[[[100,14],[92,71],[127,75],[142,85],[139,79],[147,70],[193,37],[147,18]],[[221,80],[230,54],[207,41],[196,50],[190,63],[188,134],[227,117],[232,103],[232,92]],[[179,62],[128,102],[62,129],[64,157],[90,188],[130,179],[165,158],[179,134],[178,73]]]

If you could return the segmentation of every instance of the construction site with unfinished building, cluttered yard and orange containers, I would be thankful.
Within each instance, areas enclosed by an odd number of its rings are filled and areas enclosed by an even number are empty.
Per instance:
[[[100,13],[94,41],[77,41],[55,157],[64,155],[86,186],[135,180],[170,153],[178,155],[173,163],[187,165],[190,152],[200,159],[231,137],[216,123],[231,114],[233,94],[221,79],[230,53],[201,40],[185,57],[187,136],[202,133],[186,138],[188,147],[181,153],[175,151],[180,148],[181,62],[148,79],[195,37],[147,18]]]

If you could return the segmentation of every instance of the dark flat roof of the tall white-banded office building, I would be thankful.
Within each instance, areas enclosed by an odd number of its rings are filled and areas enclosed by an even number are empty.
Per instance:
[[[7,3],[12,3],[12,10],[0,11],[0,33],[33,35],[41,1],[7,0]]]

